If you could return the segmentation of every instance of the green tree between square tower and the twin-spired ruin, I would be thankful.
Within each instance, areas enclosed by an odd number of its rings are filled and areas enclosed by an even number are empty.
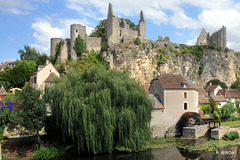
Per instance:
[[[100,20],[99,24],[90,34],[90,37],[102,37],[103,39],[105,39],[106,21],[107,21],[106,19]]]

